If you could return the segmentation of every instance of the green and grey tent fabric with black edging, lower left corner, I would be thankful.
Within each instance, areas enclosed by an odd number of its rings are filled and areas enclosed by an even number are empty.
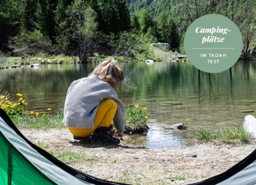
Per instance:
[[[122,184],[84,174],[24,137],[0,108],[0,184]]]

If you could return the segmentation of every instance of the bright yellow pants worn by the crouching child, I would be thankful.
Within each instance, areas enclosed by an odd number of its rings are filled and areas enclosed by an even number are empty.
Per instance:
[[[79,129],[69,127],[76,137],[89,137],[98,127],[109,127],[117,112],[117,102],[112,99],[103,100],[94,118],[94,128]]]

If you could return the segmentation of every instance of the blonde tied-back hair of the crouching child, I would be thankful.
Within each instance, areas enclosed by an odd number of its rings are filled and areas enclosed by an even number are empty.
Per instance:
[[[118,90],[124,80],[123,70],[119,67],[117,62],[113,59],[107,59],[100,63],[92,72],[103,81],[108,82],[115,90]]]

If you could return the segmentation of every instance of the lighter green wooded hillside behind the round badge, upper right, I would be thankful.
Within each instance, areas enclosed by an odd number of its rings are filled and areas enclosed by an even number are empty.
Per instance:
[[[174,22],[180,36],[179,43],[183,42],[187,27],[196,18],[207,14],[221,14],[230,18],[239,27],[244,41],[242,55],[246,58],[256,54],[255,0],[128,0],[128,3],[132,14],[141,9],[147,10],[158,28],[161,25],[166,27],[166,22],[162,20]],[[163,30],[162,32],[164,33]],[[182,48],[182,45],[180,47]]]

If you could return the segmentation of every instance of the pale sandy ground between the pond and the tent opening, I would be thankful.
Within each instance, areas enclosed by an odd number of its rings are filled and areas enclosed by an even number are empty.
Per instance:
[[[68,130],[21,130],[47,151],[83,153],[86,159],[68,165],[108,181],[129,184],[189,184],[220,174],[255,150],[255,144],[194,144],[163,149],[101,146],[76,141]],[[125,139],[125,138],[124,138]]]

